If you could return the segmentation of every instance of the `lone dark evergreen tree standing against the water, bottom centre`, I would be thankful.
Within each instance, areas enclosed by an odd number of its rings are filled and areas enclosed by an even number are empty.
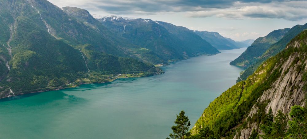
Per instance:
[[[172,139],[184,139],[189,136],[188,130],[191,126],[189,118],[185,116],[185,111],[181,111],[175,120],[176,126],[172,127],[173,133],[169,134]]]

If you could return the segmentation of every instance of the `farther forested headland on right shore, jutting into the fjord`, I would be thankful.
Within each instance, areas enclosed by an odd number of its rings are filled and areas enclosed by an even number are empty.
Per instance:
[[[278,29],[270,32],[265,37],[260,37],[251,44],[238,58],[230,62],[230,65],[249,67],[255,63],[258,58],[274,43],[282,39],[282,37],[290,30],[290,28]]]

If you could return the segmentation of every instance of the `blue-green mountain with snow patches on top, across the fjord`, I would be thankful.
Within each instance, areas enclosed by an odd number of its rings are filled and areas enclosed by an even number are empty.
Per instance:
[[[119,38],[139,46],[138,56],[148,57],[146,60],[153,63],[219,53],[211,44],[184,27],[150,19],[128,19],[117,16],[100,17],[97,20],[116,33]],[[147,56],[149,54],[152,57]]]

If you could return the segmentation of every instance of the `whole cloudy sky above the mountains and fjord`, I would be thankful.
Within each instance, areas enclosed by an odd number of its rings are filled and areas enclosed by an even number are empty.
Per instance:
[[[234,40],[307,23],[305,0],[49,0],[96,15],[165,21],[198,31],[219,32]]]

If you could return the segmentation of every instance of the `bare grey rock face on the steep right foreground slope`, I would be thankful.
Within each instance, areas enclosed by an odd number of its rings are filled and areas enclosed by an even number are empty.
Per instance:
[[[299,42],[292,43],[293,47],[300,47]],[[271,88],[263,92],[258,98],[258,102],[262,103],[269,100],[265,108],[266,113],[272,108],[273,115],[281,110],[283,113],[289,114],[293,105],[305,106],[306,82],[302,81],[303,73],[307,71],[307,61],[298,60],[299,57],[306,57],[305,53],[295,52],[289,56],[282,65],[282,75],[271,85]],[[301,67],[304,67],[301,69]],[[252,107],[248,116],[252,117],[257,113],[256,104]],[[256,122],[248,124],[248,128],[242,129],[240,136],[234,138],[248,139],[253,129],[261,134],[261,130]],[[239,136],[239,137],[238,137]]]

